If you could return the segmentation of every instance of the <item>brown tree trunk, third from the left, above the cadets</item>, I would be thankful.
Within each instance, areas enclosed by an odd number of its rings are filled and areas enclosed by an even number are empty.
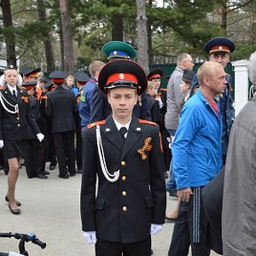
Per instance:
[[[60,0],[60,18],[63,35],[64,71],[74,74],[74,51],[68,0]]]

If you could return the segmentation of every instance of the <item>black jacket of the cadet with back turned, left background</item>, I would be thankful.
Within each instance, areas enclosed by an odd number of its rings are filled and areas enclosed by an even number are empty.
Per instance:
[[[52,133],[76,131],[76,96],[71,90],[57,86],[47,93],[45,115],[52,121]]]

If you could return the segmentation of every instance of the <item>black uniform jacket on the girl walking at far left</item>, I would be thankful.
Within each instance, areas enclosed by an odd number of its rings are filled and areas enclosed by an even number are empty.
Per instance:
[[[28,136],[28,126],[31,127],[34,134],[39,133],[35,116],[29,105],[28,91],[17,86],[17,99],[12,96],[8,87],[1,87],[0,92],[9,103],[19,106],[19,113],[12,114],[6,111],[3,104],[0,103],[0,140],[25,140]],[[14,108],[4,99],[5,106],[14,111]]]

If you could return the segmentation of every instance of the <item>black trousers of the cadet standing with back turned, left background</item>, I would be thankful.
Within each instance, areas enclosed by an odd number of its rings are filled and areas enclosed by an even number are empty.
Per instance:
[[[60,176],[76,174],[75,131],[53,133]]]

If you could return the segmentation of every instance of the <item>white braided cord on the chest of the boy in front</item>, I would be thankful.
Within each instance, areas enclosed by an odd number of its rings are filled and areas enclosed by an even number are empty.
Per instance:
[[[98,148],[98,153],[99,153],[99,158],[100,158],[100,167],[101,170],[105,176],[105,178],[109,181],[109,182],[116,182],[116,180],[119,179],[120,176],[120,170],[114,172],[114,174],[111,174],[108,172],[108,168],[107,168],[107,164],[106,164],[106,160],[105,160],[105,156],[104,156],[104,151],[103,151],[103,147],[102,147],[102,141],[101,141],[101,136],[100,136],[100,125],[98,124],[96,126],[96,140],[97,140],[97,148]]]

